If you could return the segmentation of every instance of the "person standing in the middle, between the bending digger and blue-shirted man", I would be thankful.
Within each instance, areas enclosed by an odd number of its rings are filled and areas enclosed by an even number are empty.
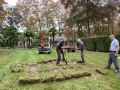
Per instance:
[[[81,39],[78,39],[77,47],[81,52],[80,53],[81,54],[81,60],[78,61],[78,63],[84,64],[85,63],[85,59],[84,59],[84,47],[85,47],[85,45],[84,45],[84,42]]]

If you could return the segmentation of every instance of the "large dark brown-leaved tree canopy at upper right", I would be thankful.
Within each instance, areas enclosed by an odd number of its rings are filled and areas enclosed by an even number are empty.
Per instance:
[[[61,0],[69,17],[66,20],[68,26],[77,26],[78,31],[87,32],[87,35],[99,31],[104,32],[104,27],[108,29],[113,26],[117,5],[111,0]],[[110,25],[111,24],[111,25]],[[83,29],[84,28],[84,29]],[[113,32],[108,30],[109,33]]]

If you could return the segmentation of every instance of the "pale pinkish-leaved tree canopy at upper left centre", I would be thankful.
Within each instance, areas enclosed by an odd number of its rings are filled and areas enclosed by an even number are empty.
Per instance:
[[[33,31],[41,31],[56,25],[55,19],[61,20],[63,12],[52,0],[20,0],[17,8],[23,17],[23,24]]]

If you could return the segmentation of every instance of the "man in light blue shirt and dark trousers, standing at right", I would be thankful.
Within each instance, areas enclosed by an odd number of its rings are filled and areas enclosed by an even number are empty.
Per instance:
[[[115,35],[110,35],[110,39],[112,40],[110,49],[109,49],[109,60],[107,69],[111,68],[112,63],[115,66],[115,72],[120,72],[118,62],[117,62],[117,54],[119,52],[119,41],[115,38]]]

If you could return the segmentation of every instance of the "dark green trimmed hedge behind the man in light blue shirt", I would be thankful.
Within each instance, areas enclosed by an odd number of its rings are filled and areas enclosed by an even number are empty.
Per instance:
[[[119,39],[120,40],[120,39]],[[107,52],[109,51],[111,40],[108,37],[83,39],[86,49],[89,51]]]

